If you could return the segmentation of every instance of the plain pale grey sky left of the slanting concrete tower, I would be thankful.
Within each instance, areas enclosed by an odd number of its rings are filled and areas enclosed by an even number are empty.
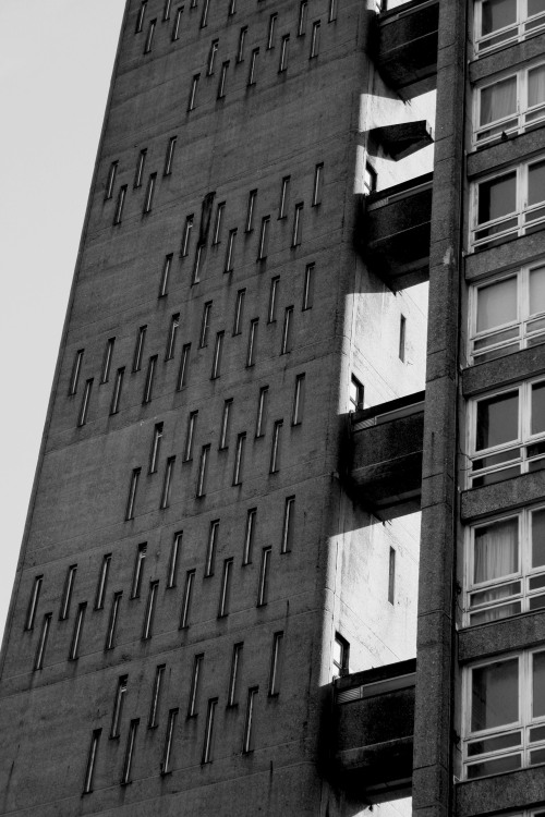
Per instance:
[[[0,0],[0,636],[124,0]]]

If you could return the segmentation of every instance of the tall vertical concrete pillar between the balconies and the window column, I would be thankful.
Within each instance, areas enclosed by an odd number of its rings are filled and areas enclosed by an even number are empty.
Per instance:
[[[440,0],[422,483],[413,814],[452,813],[452,588],[465,0]]]

